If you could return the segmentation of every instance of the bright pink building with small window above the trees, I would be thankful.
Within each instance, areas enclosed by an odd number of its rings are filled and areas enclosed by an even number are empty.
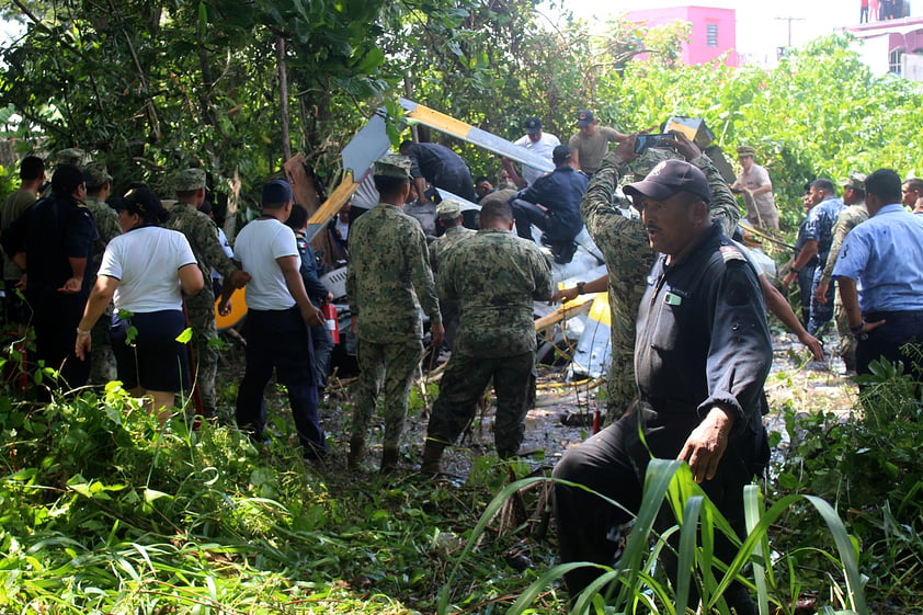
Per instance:
[[[674,21],[692,24],[692,41],[683,45],[680,56],[686,64],[705,64],[730,52],[725,64],[738,66],[737,15],[733,9],[711,7],[671,7],[630,11],[628,20],[654,27]]]

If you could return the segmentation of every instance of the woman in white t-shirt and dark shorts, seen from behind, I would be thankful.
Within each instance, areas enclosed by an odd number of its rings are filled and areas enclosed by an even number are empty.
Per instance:
[[[175,394],[191,389],[189,353],[176,341],[186,326],[183,294],[198,293],[204,278],[186,238],[160,227],[169,214],[157,195],[134,189],[117,209],[123,235],[105,249],[75,351],[87,357],[90,330],[114,298],[110,335],[118,379],[166,422]]]

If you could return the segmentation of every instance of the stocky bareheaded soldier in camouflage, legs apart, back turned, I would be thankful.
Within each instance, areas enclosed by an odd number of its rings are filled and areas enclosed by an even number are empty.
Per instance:
[[[458,301],[462,322],[426,431],[424,472],[440,472],[444,448],[475,418],[491,378],[497,454],[512,457],[523,441],[535,368],[533,300],[551,296],[551,269],[533,241],[512,232],[513,226],[510,205],[489,200],[481,207],[480,230],[441,265],[440,299]]]

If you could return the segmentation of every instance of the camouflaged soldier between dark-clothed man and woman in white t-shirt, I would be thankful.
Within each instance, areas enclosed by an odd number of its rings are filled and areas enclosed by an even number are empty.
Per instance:
[[[89,263],[93,275],[100,270],[100,262],[105,247],[113,238],[122,235],[122,226],[118,224],[118,215],[115,209],[109,206],[109,198],[112,190],[112,175],[102,162],[90,162],[83,167],[83,183],[87,184],[87,208],[93,215],[99,232],[93,243],[93,262]],[[93,324],[90,331],[90,342],[93,352],[90,353],[90,379],[91,385],[104,385],[116,378],[115,355],[112,354],[112,342],[110,340],[110,326],[112,324],[112,304],[109,304],[102,317]]]

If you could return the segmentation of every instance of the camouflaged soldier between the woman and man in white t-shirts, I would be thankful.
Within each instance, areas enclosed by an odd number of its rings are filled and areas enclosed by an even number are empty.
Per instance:
[[[205,201],[205,171],[180,171],[173,179],[173,189],[176,203],[170,207],[170,220],[164,225],[166,228],[178,230],[186,237],[205,280],[210,278],[212,270],[215,269],[224,276],[225,284],[235,288],[242,287],[250,276],[235,266],[218,240],[218,227],[198,210]],[[186,297],[186,311],[193,331],[192,365],[195,386],[202,399],[201,411],[203,417],[212,418],[218,408],[215,394],[218,350],[212,341],[218,338],[218,329],[215,326],[215,293],[210,284],[206,284],[197,295]]]

